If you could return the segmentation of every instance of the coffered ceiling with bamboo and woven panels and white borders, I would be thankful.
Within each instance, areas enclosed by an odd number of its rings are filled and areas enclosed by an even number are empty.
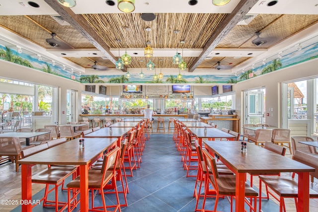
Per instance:
[[[268,6],[272,1],[231,0],[215,6],[212,0],[198,0],[191,6],[188,0],[136,0],[135,11],[123,13],[116,0],[114,6],[107,0],[77,0],[72,8],[56,0],[33,0],[38,8],[30,1],[0,0],[0,26],[44,48],[48,56],[72,62],[86,73],[94,71],[94,61],[108,67],[98,74],[118,73],[114,63],[126,49],[132,63],[121,71],[145,68],[148,41],[154,49],[151,60],[159,68],[175,69],[177,73],[177,65],[172,64],[177,51],[193,74],[202,70],[233,73],[286,39],[317,28],[318,0],[278,0]],[[154,13],[156,18],[145,21],[143,13]],[[46,42],[53,32],[55,39],[68,48],[51,47]],[[260,32],[260,40],[266,43],[255,46],[255,32]],[[218,62],[227,69],[216,70]]]

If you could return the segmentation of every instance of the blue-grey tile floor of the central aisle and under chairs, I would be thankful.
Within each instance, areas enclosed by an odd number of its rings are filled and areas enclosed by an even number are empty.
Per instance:
[[[121,210],[123,212],[193,212],[196,203],[193,197],[195,178],[185,176],[186,171],[183,170],[180,159],[181,156],[174,146],[171,134],[152,135],[151,139],[146,141],[141,168],[134,170],[133,177],[128,177],[129,206],[122,207]],[[34,195],[33,199],[40,199],[42,195],[43,190]],[[114,195],[106,197],[108,204],[115,202]],[[59,198],[66,200],[67,191],[61,192]],[[120,199],[123,201],[121,195]],[[213,210],[214,203],[214,199],[207,200],[205,208]],[[263,200],[262,203],[263,211],[279,211],[278,206],[271,200]],[[13,210],[13,212],[19,211],[20,207]],[[51,212],[54,209],[37,206],[33,211]],[[219,201],[218,211],[231,211],[227,199]]]

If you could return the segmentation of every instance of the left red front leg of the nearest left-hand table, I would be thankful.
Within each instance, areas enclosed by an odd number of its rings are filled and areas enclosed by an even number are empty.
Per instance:
[[[21,165],[21,200],[23,202],[29,203],[32,200],[32,165],[22,164]],[[23,204],[21,206],[22,212],[31,212],[31,204]]]

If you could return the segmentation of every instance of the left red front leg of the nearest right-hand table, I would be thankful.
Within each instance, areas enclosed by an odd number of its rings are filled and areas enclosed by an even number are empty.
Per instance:
[[[236,173],[235,211],[244,211],[245,173]]]

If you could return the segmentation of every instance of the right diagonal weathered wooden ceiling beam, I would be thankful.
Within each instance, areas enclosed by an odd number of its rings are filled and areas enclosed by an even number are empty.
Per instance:
[[[189,72],[193,72],[208,55],[216,48],[221,40],[239,23],[241,18],[257,3],[258,0],[241,0],[232,13],[227,14],[217,30],[205,44],[202,53],[189,66]]]

